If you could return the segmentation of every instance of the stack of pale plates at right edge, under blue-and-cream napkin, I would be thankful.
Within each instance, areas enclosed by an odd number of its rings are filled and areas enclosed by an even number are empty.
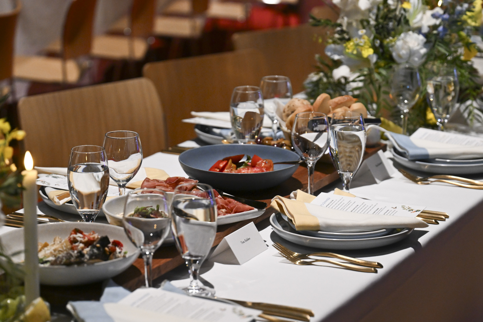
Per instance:
[[[473,175],[483,173],[483,159],[474,160],[408,160],[396,149],[391,150],[394,160],[413,170],[436,173],[441,175]]]

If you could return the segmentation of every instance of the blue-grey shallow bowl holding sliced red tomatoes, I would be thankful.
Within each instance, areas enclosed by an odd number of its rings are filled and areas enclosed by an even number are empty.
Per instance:
[[[262,173],[240,174],[208,171],[214,162],[237,154],[248,154],[251,157],[256,154],[260,158],[271,159],[273,162],[300,160],[297,153],[280,147],[256,144],[219,144],[187,150],[181,153],[179,161],[185,173],[191,178],[226,191],[271,188],[290,178],[298,168],[298,165],[275,164],[273,171]]]

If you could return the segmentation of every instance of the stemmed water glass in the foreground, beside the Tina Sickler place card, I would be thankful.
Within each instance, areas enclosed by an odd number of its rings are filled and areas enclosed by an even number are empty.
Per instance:
[[[216,202],[211,186],[198,183],[193,187],[192,183],[184,183],[174,189],[171,228],[176,247],[189,269],[189,286],[183,289],[188,294],[214,295],[213,289],[200,285],[198,275],[201,264],[213,246],[216,217]]]

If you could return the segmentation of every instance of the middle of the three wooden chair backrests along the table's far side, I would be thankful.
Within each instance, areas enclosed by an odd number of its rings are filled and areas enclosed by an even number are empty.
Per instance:
[[[171,59],[144,65],[144,77],[151,79],[163,102],[168,145],[196,137],[191,111],[228,111],[233,88],[259,86],[267,75],[263,55],[256,49],[214,55]]]

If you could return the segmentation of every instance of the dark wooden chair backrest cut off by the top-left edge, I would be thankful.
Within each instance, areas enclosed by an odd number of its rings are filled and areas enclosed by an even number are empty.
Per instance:
[[[14,70],[15,27],[22,4],[16,0],[15,5],[13,11],[0,15],[0,80],[12,77]]]

